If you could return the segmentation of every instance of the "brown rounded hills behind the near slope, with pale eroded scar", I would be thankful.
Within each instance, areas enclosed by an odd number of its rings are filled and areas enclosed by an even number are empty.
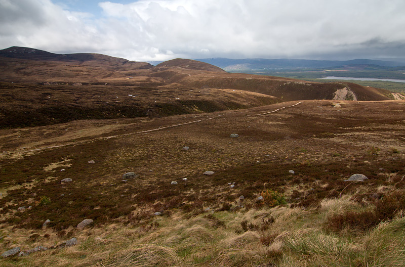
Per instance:
[[[354,83],[227,73],[174,59],[152,66],[100,54],[0,51],[0,127],[79,119],[161,117],[246,109],[284,101],[380,101],[401,95]]]

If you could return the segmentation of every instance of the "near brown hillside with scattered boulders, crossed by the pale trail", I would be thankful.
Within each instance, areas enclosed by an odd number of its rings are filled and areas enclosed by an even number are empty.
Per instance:
[[[0,130],[0,252],[49,248],[0,265],[402,265],[403,106],[307,100]],[[354,173],[368,180],[345,182]]]

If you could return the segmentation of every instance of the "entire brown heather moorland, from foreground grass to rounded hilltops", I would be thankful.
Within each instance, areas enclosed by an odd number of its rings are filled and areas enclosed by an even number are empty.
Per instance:
[[[403,94],[186,59],[0,57],[0,252],[48,248],[1,265],[405,263]]]

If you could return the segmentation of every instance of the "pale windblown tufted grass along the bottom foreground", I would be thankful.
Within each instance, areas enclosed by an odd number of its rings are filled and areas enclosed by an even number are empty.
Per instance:
[[[401,192],[403,193],[403,192]],[[320,209],[290,207],[221,211],[193,217],[175,212],[156,217],[149,230],[120,224],[76,233],[75,247],[2,259],[2,266],[399,266],[405,262],[405,218],[356,232],[334,233],[323,225],[331,214],[362,210],[352,196],[328,199]],[[269,227],[238,233],[240,221]],[[217,227],[215,220],[226,226]],[[39,230],[39,236],[43,236]],[[46,231],[46,230],[45,230]],[[4,233],[13,237],[23,232]]]

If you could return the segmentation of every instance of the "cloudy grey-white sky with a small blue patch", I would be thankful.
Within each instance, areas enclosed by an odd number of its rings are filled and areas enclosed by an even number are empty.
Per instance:
[[[404,0],[0,0],[0,49],[173,58],[405,58]]]

